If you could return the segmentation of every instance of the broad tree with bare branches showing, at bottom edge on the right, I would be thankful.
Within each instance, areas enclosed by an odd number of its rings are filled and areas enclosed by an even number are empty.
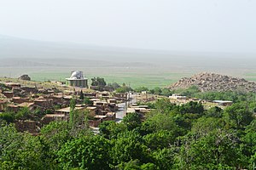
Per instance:
[[[228,169],[241,167],[236,133],[216,129],[201,139],[184,141],[179,167],[185,169]]]

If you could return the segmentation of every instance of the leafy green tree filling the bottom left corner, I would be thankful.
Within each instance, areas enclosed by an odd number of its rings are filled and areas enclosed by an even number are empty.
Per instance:
[[[18,133],[13,124],[0,127],[0,144],[0,169],[48,168],[38,138]]]

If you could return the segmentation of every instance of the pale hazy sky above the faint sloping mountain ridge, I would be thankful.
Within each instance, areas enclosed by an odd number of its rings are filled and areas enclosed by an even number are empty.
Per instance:
[[[0,34],[256,54],[256,0],[0,0]]]

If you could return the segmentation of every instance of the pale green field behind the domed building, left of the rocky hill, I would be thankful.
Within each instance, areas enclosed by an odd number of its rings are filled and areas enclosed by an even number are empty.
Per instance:
[[[84,76],[89,79],[92,77],[104,77],[107,83],[118,82],[130,85],[132,88],[145,86],[147,88],[161,87],[164,88],[173,82],[176,82],[181,77],[189,77],[192,73],[173,72],[173,71],[150,71],[150,69],[141,68],[76,68],[79,71],[84,71]],[[65,78],[70,77],[70,71],[73,68],[40,68],[40,69],[9,69],[0,68],[1,77],[19,77],[21,74],[28,74],[33,81],[65,81]]]

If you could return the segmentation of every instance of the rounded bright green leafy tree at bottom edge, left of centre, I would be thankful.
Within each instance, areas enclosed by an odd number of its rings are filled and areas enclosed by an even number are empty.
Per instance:
[[[58,151],[58,161],[62,169],[110,169],[109,149],[108,139],[98,135],[84,136],[64,144]]]

